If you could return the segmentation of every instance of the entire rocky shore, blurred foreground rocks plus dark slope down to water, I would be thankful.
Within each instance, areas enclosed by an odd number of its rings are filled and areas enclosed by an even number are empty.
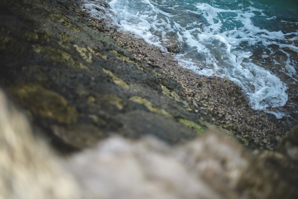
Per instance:
[[[0,86],[26,115],[0,92],[0,198],[297,197],[295,118],[79,1],[4,0],[0,18]]]

